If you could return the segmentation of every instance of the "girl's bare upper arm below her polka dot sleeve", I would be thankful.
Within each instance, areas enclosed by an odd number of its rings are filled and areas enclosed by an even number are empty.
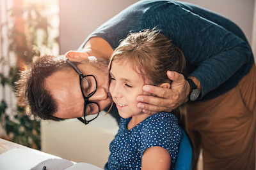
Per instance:
[[[141,170],[150,169],[171,169],[172,157],[170,153],[160,147],[152,146],[147,148],[141,159]]]

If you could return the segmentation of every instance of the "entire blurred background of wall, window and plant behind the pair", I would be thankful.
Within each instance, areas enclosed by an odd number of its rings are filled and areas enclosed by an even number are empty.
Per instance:
[[[138,0],[137,0],[138,1]],[[186,1],[186,0],[184,0]],[[103,167],[118,126],[104,113],[92,124],[39,121],[17,107],[19,70],[42,55],[76,50],[97,27],[136,0],[0,0],[0,138]],[[256,0],[191,0],[234,21],[256,53]]]

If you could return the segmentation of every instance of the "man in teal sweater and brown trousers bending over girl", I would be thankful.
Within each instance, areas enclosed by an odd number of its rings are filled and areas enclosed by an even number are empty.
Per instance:
[[[139,1],[92,32],[79,52],[68,52],[66,56],[73,62],[84,62],[88,56],[109,59],[120,39],[130,31],[154,27],[161,29],[182,50],[188,78],[170,71],[167,73],[173,81],[170,90],[145,85],[143,90],[154,96],[138,96],[138,108],[151,114],[172,111],[189,101],[188,129],[197,156],[200,147],[203,148],[204,169],[255,169],[255,63],[243,32],[227,18],[178,1]],[[76,66],[85,67],[83,63]],[[92,96],[79,94],[78,90],[83,88],[79,89],[78,78],[72,79],[79,73],[75,69],[73,66],[63,73],[58,71],[42,80],[47,94],[52,96],[51,103],[57,108],[51,113],[52,118],[81,117],[87,110],[84,103],[86,106],[88,102],[97,103],[99,110],[110,103],[108,85],[104,83],[93,89]],[[96,71],[81,72],[95,75],[96,81],[104,78],[104,74],[97,77]],[[73,76],[68,76],[71,73]],[[29,97],[33,90],[26,94]],[[30,96],[31,106],[38,94]],[[99,97],[93,99],[94,95]],[[44,103],[39,99],[40,104]],[[40,110],[39,104],[37,107]]]

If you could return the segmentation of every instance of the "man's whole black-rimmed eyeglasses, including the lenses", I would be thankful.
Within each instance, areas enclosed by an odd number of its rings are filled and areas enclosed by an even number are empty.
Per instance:
[[[89,101],[89,98],[92,97],[97,90],[97,81],[93,75],[84,76],[83,73],[81,73],[81,71],[77,68],[76,64],[74,64],[72,61],[67,59],[67,63],[70,64],[70,66],[72,66],[79,75],[80,87],[84,97],[84,118],[79,117],[77,119],[83,122],[83,124],[87,125],[89,122],[92,122],[92,120],[97,118],[100,113],[99,104]],[[85,115],[91,115],[92,113],[97,113],[97,116],[91,120],[86,120]]]

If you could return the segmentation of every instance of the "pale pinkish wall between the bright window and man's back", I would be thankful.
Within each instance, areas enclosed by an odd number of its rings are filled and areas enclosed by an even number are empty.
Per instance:
[[[97,27],[138,0],[60,0],[60,53],[76,50]]]

